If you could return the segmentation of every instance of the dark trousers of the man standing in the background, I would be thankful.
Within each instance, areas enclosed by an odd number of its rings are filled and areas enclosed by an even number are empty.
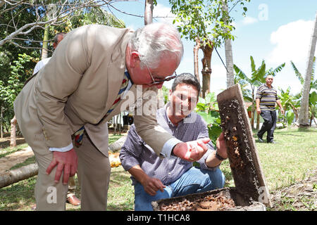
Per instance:
[[[273,133],[276,127],[276,111],[261,110],[260,115],[264,122],[258,132],[258,136],[262,138],[263,134],[267,132],[266,141],[268,141],[268,143],[272,142],[274,138]]]

